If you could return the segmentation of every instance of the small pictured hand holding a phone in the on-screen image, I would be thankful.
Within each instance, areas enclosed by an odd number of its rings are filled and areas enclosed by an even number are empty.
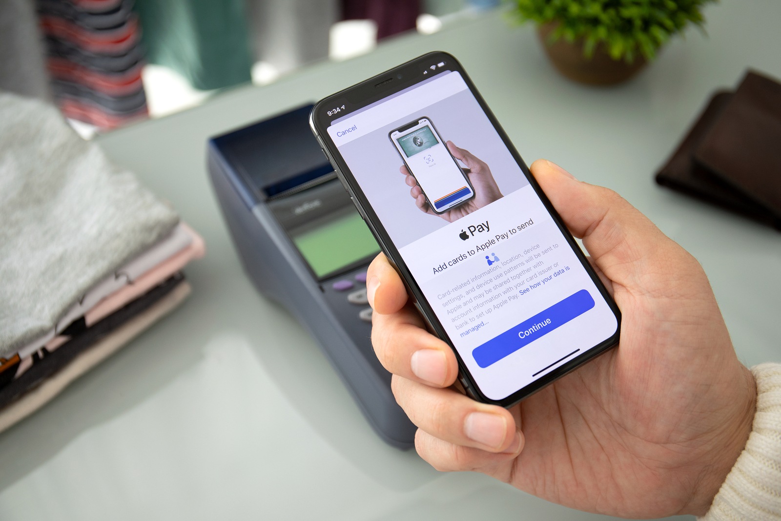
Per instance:
[[[401,165],[399,171],[405,175],[405,183],[410,187],[409,194],[415,199],[415,205],[417,205],[421,211],[432,216],[441,217],[448,221],[448,223],[452,223],[455,220],[461,219],[463,216],[469,215],[469,213],[474,212],[476,209],[489,205],[498,198],[501,198],[502,195],[496,184],[496,180],[494,180],[494,175],[490,173],[490,168],[488,168],[488,165],[485,162],[477,159],[468,150],[458,148],[453,144],[453,141],[448,141],[447,146],[453,157],[466,165],[466,168],[462,170],[464,170],[466,176],[469,177],[469,182],[475,189],[475,197],[464,204],[458,205],[448,212],[434,212],[429,203],[426,202],[426,196],[423,194],[423,190],[418,186],[418,181],[415,180],[415,177],[407,170],[407,166]]]

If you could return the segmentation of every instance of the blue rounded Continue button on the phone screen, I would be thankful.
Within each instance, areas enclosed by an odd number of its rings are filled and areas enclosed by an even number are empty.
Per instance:
[[[475,362],[480,367],[490,366],[593,307],[594,298],[591,298],[588,291],[580,290],[571,294],[562,302],[551,305],[545,311],[477,346],[472,351]]]

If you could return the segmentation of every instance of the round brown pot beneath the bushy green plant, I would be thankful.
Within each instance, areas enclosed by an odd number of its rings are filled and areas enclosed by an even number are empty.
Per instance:
[[[545,54],[553,65],[570,80],[590,85],[614,85],[629,80],[647,65],[642,56],[632,63],[615,60],[610,57],[603,45],[597,45],[594,55],[586,58],[583,55],[583,41],[569,43],[559,38],[550,43],[550,37],[556,23],[545,23],[537,27],[537,36],[545,49]]]

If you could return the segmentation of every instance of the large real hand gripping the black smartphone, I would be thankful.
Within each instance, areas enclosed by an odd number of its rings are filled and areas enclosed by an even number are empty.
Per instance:
[[[708,278],[615,192],[551,162],[531,170],[619,305],[620,344],[511,409],[478,403],[451,387],[455,355],[380,254],[367,284],[372,341],[419,427],[415,448],[437,469],[476,470],[576,509],[702,515],[744,448],[756,399]]]

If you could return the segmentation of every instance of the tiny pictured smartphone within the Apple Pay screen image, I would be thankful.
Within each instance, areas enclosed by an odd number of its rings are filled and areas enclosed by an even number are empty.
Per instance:
[[[434,212],[447,212],[475,196],[469,180],[428,118],[391,130],[389,137]]]

